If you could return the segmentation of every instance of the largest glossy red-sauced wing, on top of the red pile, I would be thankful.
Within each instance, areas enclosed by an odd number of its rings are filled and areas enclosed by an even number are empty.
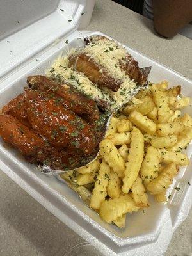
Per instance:
[[[28,120],[31,127],[45,136],[57,148],[67,147],[91,154],[96,146],[90,125],[83,118],[65,108],[56,95],[29,90],[25,94]]]

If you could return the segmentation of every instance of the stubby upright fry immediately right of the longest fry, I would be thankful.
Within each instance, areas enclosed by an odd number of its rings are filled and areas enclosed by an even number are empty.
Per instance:
[[[141,179],[144,181],[145,186],[157,177],[159,162],[158,150],[152,146],[148,147],[140,170]]]

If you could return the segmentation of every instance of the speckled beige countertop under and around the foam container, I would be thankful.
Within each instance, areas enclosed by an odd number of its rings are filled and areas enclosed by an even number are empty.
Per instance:
[[[192,79],[192,41],[156,35],[152,21],[112,2],[96,0],[87,30],[102,31]],[[70,228],[0,171],[0,255],[63,256],[83,242]],[[176,230],[164,256],[192,255],[192,211]]]

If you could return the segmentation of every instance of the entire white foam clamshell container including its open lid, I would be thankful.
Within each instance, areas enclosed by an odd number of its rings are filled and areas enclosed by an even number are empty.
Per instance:
[[[10,19],[8,24],[5,17],[8,6],[3,6],[4,10],[1,8],[0,11],[0,17],[4,13],[4,31],[1,31],[0,38],[0,108],[23,91],[27,76],[45,74],[45,70],[51,67],[52,61],[61,52],[82,46],[86,36],[104,35],[98,31],[77,31],[81,19],[90,15],[88,11],[84,13],[90,1],[50,1],[49,4],[44,0],[34,1],[34,10],[29,10],[29,2],[21,1],[20,5],[15,2],[14,15],[11,15],[11,19],[7,15],[7,19]],[[36,13],[36,17],[33,13]],[[19,20],[20,17],[23,20]],[[16,29],[15,24],[18,25]],[[7,35],[5,31],[12,35]],[[152,66],[150,81],[156,83],[166,79],[170,86],[180,84],[182,93],[192,97],[191,81],[129,47],[126,49],[140,67]],[[192,115],[191,109],[187,108],[186,112]],[[189,157],[191,152],[192,145],[189,145]],[[188,184],[192,181],[191,164],[187,168],[180,168],[179,175],[168,191],[172,197],[167,204],[156,203],[150,196],[151,205],[145,212],[127,215],[124,230],[104,223],[67,185],[41,173],[16,150],[4,146],[1,139],[0,169],[104,255],[162,255],[174,230],[184,221],[192,204],[192,186]],[[175,190],[175,186],[180,190]]]

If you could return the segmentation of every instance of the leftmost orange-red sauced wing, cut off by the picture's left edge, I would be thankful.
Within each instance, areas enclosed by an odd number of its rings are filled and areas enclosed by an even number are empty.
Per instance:
[[[42,164],[49,161],[50,166],[62,166],[60,154],[42,137],[21,124],[13,116],[0,115],[0,136],[6,143],[17,148],[30,163]]]

